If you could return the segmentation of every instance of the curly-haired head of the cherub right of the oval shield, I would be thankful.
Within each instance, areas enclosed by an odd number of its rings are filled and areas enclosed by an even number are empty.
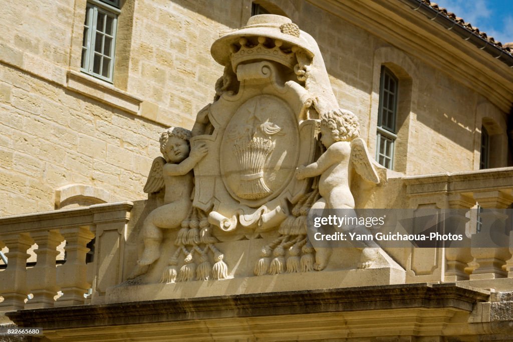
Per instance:
[[[335,109],[321,115],[321,142],[329,147],[337,141],[351,141],[360,136],[358,118],[346,109]]]

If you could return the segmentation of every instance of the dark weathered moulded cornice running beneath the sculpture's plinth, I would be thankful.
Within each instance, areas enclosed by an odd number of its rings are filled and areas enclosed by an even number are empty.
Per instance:
[[[182,298],[19,310],[7,316],[19,327],[70,329],[228,317],[318,314],[388,309],[471,312],[488,300],[485,290],[456,283],[417,283],[331,290]]]

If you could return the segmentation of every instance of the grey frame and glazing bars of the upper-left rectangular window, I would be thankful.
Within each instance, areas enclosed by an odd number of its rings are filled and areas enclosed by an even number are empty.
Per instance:
[[[110,2],[110,3],[119,3]],[[98,31],[96,28],[98,13],[104,14],[106,17],[112,17],[112,33],[107,34],[106,32]],[[117,16],[121,13],[119,8],[113,7],[107,3],[101,2],[100,0],[89,0],[86,5],[86,16],[84,21],[83,41],[82,41],[82,57],[80,70],[92,77],[101,79],[103,81],[113,83],[114,79],[114,64],[115,64],[115,46],[116,46],[116,35],[117,35]],[[95,51],[96,44],[96,32],[101,32],[102,38],[102,49],[99,54],[101,55],[101,64],[98,66],[99,73],[94,72],[94,56],[97,54]],[[110,55],[104,54],[105,48],[105,36],[112,39],[110,43]],[[85,53],[84,53],[85,50]],[[105,77],[102,74],[103,60],[105,58],[110,59],[110,65],[108,69],[109,77]]]

